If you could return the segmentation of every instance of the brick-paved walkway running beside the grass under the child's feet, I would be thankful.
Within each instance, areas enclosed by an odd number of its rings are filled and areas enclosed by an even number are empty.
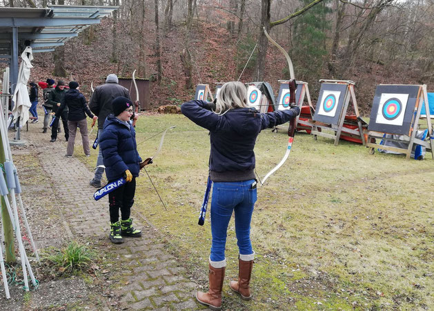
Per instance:
[[[77,133],[76,145],[81,144]],[[109,215],[106,198],[95,201],[95,188],[89,185],[93,174],[77,157],[64,157],[66,142],[63,133],[55,143],[50,134],[41,133],[41,124],[30,124],[29,132],[21,138],[33,144],[43,170],[52,181],[52,189],[63,215],[63,226],[71,239],[98,239],[99,252],[117,254],[122,263],[118,275],[122,305],[127,310],[183,310],[198,309],[193,293],[197,285],[185,275],[177,258],[164,249],[157,230],[143,216],[132,212],[134,225],[141,228],[143,237],[126,238],[115,245],[108,240]],[[81,146],[80,146],[81,147]],[[80,152],[82,153],[82,151]],[[55,160],[55,161],[54,161]]]

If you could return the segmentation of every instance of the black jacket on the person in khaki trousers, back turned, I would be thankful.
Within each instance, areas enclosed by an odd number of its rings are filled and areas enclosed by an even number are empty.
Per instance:
[[[90,112],[84,95],[81,94],[76,88],[72,88],[65,92],[65,95],[61,99],[61,104],[56,112],[56,117],[59,117],[64,109],[68,111],[68,121],[81,121],[86,119],[86,114],[90,118],[93,118],[92,112]],[[86,112],[86,114],[84,114]]]

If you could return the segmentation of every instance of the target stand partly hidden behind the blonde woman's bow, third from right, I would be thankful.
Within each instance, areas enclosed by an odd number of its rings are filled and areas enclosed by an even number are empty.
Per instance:
[[[277,95],[277,102],[275,108],[277,110],[289,110],[290,98],[289,98],[289,86],[288,80],[278,80],[280,83],[279,94]],[[308,101],[308,106],[303,106],[304,99]],[[295,103],[300,108],[300,114],[295,119],[295,129],[297,131],[306,130],[310,133],[313,127],[312,115],[315,112],[312,101],[310,100],[310,93],[308,83],[303,81],[297,81],[297,90],[295,90]],[[277,132],[279,128],[273,128],[273,132]]]

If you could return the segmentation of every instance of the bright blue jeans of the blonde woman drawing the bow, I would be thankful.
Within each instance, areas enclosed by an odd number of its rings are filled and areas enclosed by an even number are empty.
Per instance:
[[[250,221],[253,206],[257,199],[257,190],[252,189],[254,179],[214,183],[211,201],[211,261],[223,261],[226,246],[226,233],[232,212],[235,212],[235,233],[239,254],[253,254],[250,241]]]

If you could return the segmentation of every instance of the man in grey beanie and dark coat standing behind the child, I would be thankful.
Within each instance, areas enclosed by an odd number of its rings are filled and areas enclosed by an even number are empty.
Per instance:
[[[130,92],[124,86],[119,86],[119,79],[116,74],[109,74],[106,83],[102,86],[97,86],[95,92],[90,99],[89,108],[98,117],[98,139],[101,139],[103,133],[104,121],[109,114],[113,113],[112,101],[116,97],[122,96],[130,99]],[[96,188],[101,188],[101,177],[103,175],[103,155],[101,149],[98,152],[97,168],[95,169],[95,177],[90,181],[90,185]]]

